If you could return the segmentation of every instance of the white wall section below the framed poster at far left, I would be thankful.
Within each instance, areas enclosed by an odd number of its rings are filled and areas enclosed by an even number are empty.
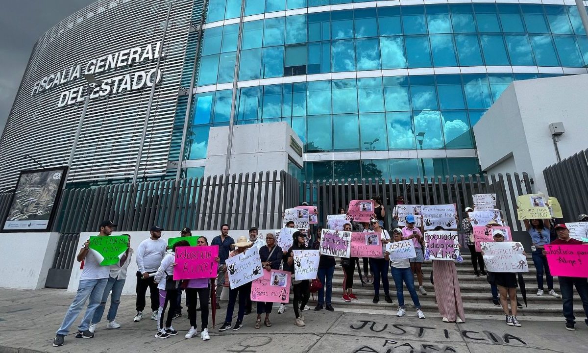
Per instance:
[[[59,233],[2,233],[0,239],[0,287],[45,287]]]

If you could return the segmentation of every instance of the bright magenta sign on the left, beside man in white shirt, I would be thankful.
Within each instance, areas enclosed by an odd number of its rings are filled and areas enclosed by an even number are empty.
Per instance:
[[[178,247],[173,279],[215,278],[219,247]]]

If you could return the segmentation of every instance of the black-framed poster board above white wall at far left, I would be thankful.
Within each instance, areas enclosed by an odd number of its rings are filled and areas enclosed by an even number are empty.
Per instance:
[[[21,171],[4,232],[48,231],[56,214],[66,167]]]

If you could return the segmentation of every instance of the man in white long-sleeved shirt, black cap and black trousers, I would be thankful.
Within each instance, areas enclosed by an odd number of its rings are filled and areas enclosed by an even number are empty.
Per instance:
[[[143,318],[145,293],[147,292],[147,288],[149,288],[149,294],[151,297],[151,319],[157,319],[157,311],[159,309],[159,289],[157,289],[157,284],[153,280],[154,277],[149,275],[157,272],[168,245],[168,243],[161,238],[161,231],[163,231],[163,228],[161,227],[151,227],[149,230],[151,237],[143,240],[141,244],[139,244],[139,248],[137,248],[137,266],[139,271],[137,271],[136,287],[137,315],[135,315],[135,318],[133,319],[134,322],[141,321]]]

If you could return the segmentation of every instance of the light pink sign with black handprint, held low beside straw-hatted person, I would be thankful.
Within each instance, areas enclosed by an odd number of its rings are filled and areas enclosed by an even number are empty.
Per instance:
[[[263,277],[251,282],[251,300],[287,303],[290,300],[290,272],[263,270]]]

